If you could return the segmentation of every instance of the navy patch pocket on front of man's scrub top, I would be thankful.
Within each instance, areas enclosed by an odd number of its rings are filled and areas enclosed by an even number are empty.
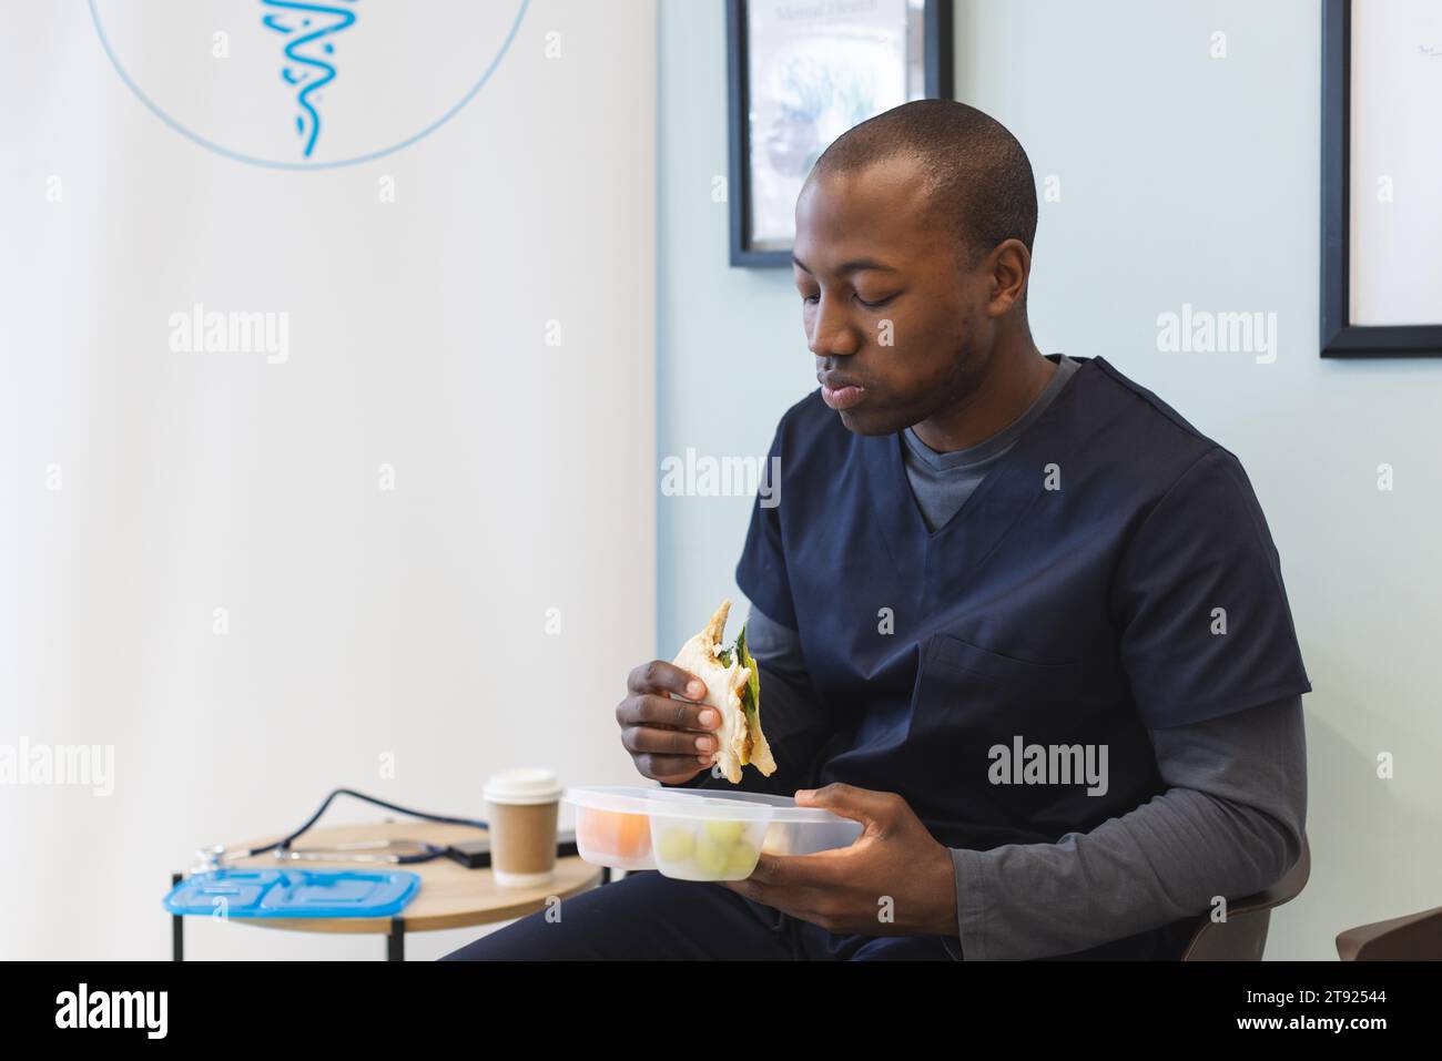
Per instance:
[[[991,750],[1004,745],[1009,755],[1015,738],[1022,747],[1105,740],[1089,670],[1084,663],[1031,663],[933,634],[921,649],[907,731],[914,770],[908,787],[923,820],[930,812],[943,829],[963,830],[981,846],[1054,832],[1074,789],[992,784]]]

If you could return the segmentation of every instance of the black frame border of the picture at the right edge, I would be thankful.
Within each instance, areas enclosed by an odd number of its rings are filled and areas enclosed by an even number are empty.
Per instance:
[[[1322,1],[1322,358],[1442,358],[1442,323],[1353,324],[1351,0]]]

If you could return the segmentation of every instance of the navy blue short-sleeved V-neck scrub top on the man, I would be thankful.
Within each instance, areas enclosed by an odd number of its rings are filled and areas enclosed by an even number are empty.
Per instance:
[[[1102,358],[1074,360],[934,532],[900,432],[852,434],[813,391],[776,431],[777,505],[757,497],[737,565],[838,725],[803,783],[898,793],[949,848],[1089,832],[1167,790],[1148,728],[1312,688],[1242,464]],[[1018,740],[1106,745],[1106,793],[994,784],[991,748]]]

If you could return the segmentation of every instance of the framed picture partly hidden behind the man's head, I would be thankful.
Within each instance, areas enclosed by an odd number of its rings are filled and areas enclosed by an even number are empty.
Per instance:
[[[789,267],[796,195],[848,128],[952,98],[952,0],[727,0],[731,264]]]

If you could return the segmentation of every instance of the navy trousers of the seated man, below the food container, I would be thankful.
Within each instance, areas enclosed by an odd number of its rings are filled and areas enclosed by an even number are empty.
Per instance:
[[[559,914],[538,911],[441,960],[953,960],[940,936],[835,936],[724,885],[655,869],[562,900]]]

